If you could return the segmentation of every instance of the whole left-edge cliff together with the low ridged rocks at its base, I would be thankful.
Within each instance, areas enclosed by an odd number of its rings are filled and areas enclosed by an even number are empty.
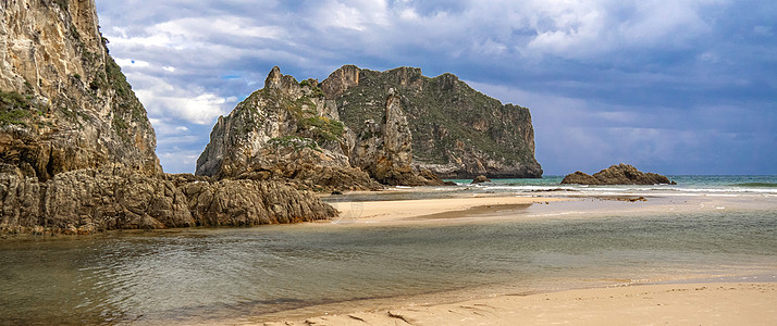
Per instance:
[[[281,183],[162,173],[153,128],[108,54],[92,0],[4,1],[0,20],[0,234],[337,215]],[[340,177],[326,173],[317,177]]]

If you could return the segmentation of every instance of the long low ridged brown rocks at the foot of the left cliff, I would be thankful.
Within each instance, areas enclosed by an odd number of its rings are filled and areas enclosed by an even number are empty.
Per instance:
[[[0,174],[0,234],[251,226],[337,215],[284,184],[146,175],[119,165],[65,172],[47,181]]]

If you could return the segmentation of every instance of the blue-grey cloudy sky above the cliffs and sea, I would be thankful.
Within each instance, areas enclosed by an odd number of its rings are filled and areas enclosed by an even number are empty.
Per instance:
[[[777,174],[777,2],[750,0],[97,0],[109,49],[194,172],[219,115],[273,65],[449,72],[531,110],[546,175],[626,162]]]

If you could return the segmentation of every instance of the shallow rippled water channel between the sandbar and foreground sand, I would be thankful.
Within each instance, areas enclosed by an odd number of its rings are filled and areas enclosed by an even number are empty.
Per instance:
[[[186,323],[493,284],[529,290],[775,263],[777,212],[4,240],[0,324]]]

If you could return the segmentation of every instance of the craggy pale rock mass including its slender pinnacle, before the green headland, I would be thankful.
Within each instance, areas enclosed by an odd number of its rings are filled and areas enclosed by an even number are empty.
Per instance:
[[[411,136],[396,95],[388,93],[382,123],[367,124],[372,127],[357,137],[318,80],[297,83],[273,67],[264,88],[219,117],[196,174],[289,181],[312,190],[380,188],[372,178],[387,185],[442,184],[412,168]]]

